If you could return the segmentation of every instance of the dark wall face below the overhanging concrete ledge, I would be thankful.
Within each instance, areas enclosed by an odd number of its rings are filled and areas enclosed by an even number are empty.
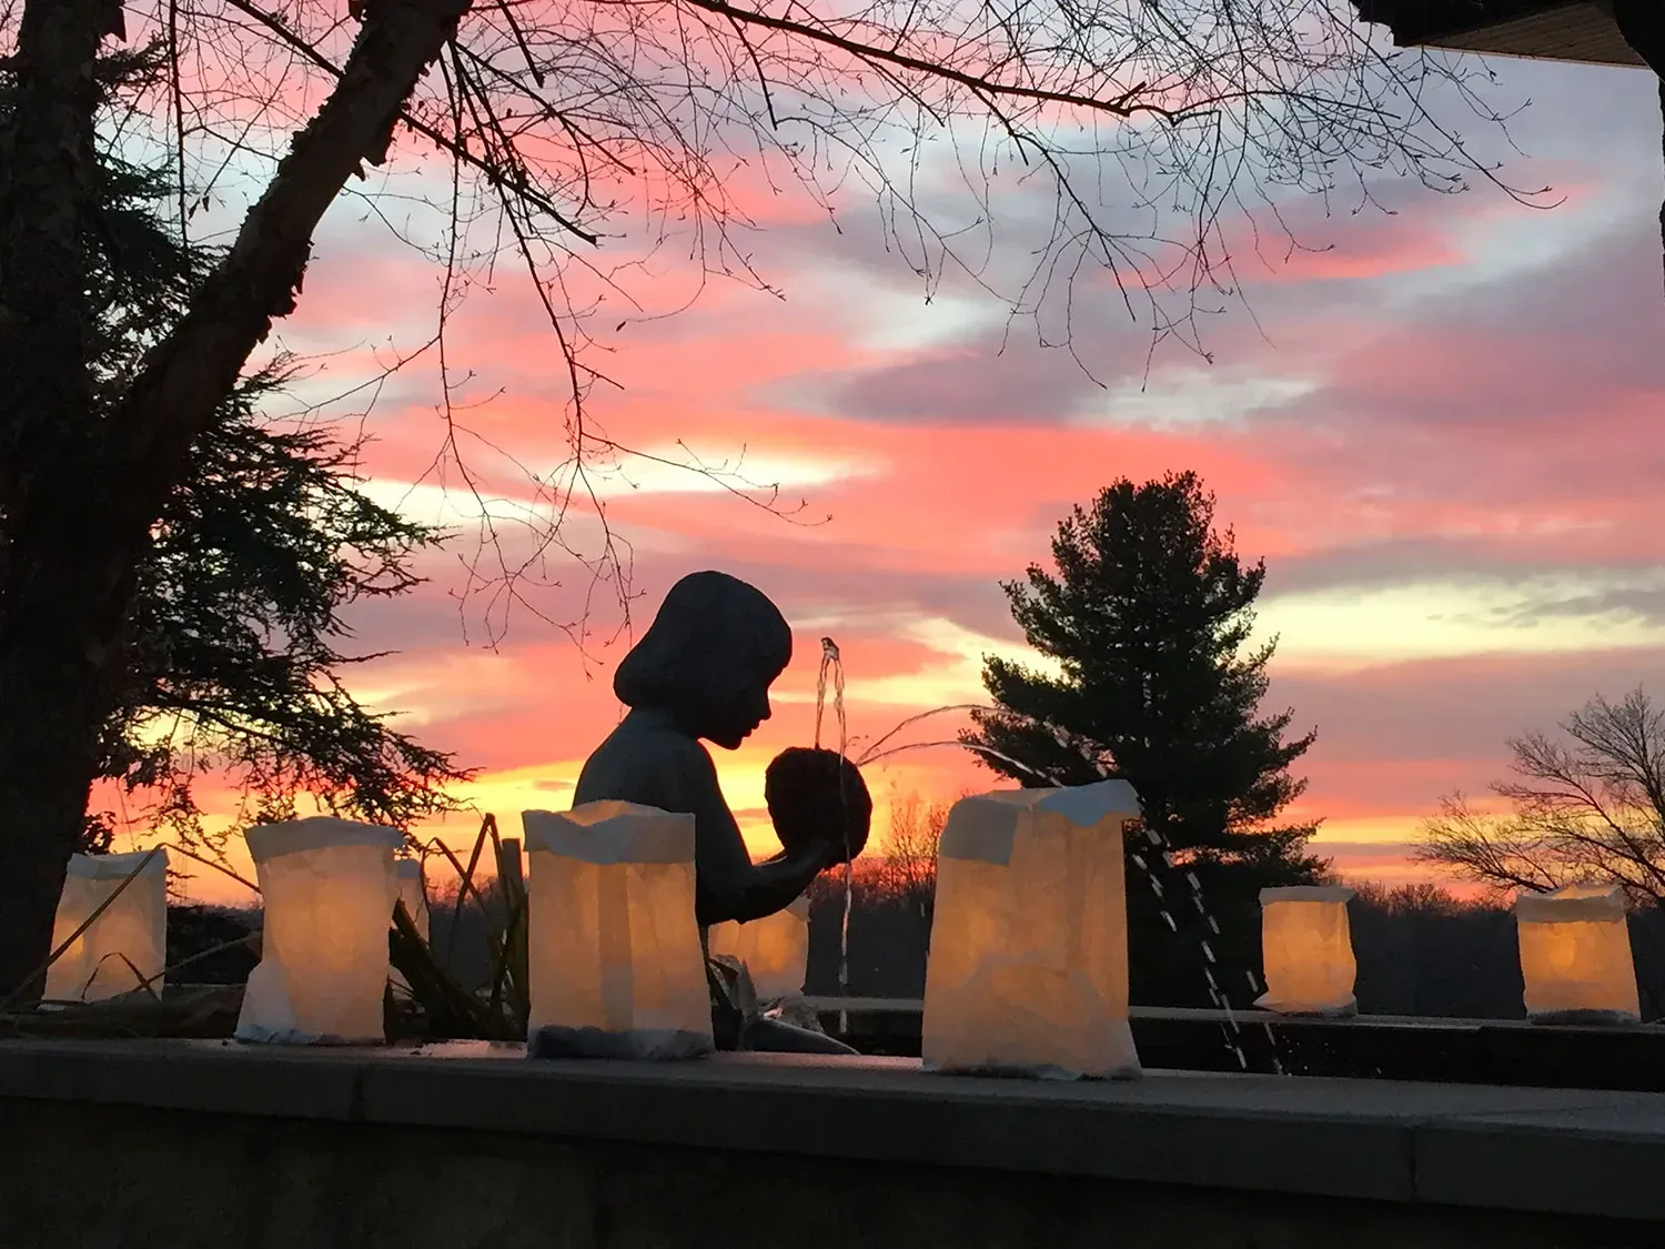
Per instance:
[[[0,1101],[7,1249],[1585,1249],[1645,1224]],[[27,1142],[27,1144],[25,1144]]]

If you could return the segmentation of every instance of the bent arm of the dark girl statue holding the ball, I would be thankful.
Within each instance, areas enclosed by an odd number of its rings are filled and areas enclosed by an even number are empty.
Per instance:
[[[764,863],[753,863],[734,813],[723,801],[716,766],[704,749],[699,749],[699,756],[704,764],[699,769],[699,793],[689,794],[691,801],[684,808],[694,813],[696,821],[694,913],[699,923],[746,923],[786,909],[829,866],[824,848],[816,844],[798,854],[783,853]]]

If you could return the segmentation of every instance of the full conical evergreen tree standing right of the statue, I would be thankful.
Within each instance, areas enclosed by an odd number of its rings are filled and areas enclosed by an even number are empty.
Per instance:
[[[1292,711],[1259,716],[1275,648],[1249,648],[1265,565],[1244,566],[1230,530],[1214,530],[1214,496],[1194,473],[1116,481],[1059,525],[1052,558],[1056,576],[1032,565],[1004,590],[1057,671],[987,658],[997,709],[966,741],[1026,786],[1132,783],[1144,804],[1127,868],[1134,998],[1207,1004],[1212,978],[1242,1004],[1242,973],[1259,968],[1259,891],[1325,868],[1305,853],[1315,824],[1279,823],[1305,788],[1289,768],[1315,734],[1285,739]]]

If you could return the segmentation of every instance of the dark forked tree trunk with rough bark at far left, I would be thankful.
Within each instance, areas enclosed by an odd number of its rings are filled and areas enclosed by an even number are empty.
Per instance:
[[[0,993],[47,954],[122,661],[135,568],[271,321],[295,306],[311,236],[471,0],[366,0],[336,88],[113,413],[85,366],[92,65],[117,0],[30,0],[18,107],[0,137],[0,380],[18,413],[0,456]],[[12,375],[17,375],[15,378]]]

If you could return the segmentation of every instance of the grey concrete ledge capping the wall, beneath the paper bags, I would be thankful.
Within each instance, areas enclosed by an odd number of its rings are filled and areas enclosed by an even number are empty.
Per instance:
[[[738,1054],[528,1062],[485,1044],[0,1042],[0,1134],[27,1139],[5,1124],[43,1101],[1665,1219],[1658,1094],[1199,1072],[1049,1084]]]

